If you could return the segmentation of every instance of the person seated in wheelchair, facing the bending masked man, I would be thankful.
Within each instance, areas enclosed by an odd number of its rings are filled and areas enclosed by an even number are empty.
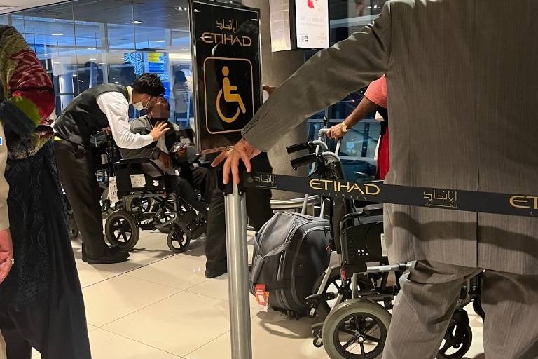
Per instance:
[[[158,97],[147,109],[146,116],[130,122],[131,131],[142,135],[150,133],[153,126],[161,121],[167,122],[169,117],[170,104],[164,97]],[[142,149],[120,149],[121,156],[123,158],[151,158],[165,172],[166,187],[172,189],[177,196],[183,198],[205,217],[207,207],[198,200],[193,187],[202,192],[202,196],[207,198],[206,201],[211,198],[214,186],[210,181],[209,169],[196,167],[191,163],[195,157],[193,147],[174,148],[181,143],[179,127],[174,123],[168,124],[170,130],[157,142]]]

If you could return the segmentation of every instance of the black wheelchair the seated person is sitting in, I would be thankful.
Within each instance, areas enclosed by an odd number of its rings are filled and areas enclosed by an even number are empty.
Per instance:
[[[167,189],[165,173],[151,159],[122,159],[115,165],[115,174],[116,189],[109,191],[117,191],[120,202],[105,223],[111,245],[127,251],[137,245],[140,229],[160,230],[168,233],[168,248],[181,253],[192,239],[205,233],[205,217]]]

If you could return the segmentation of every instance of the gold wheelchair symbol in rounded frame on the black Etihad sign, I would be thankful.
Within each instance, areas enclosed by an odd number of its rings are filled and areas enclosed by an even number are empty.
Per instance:
[[[204,62],[204,80],[208,132],[240,131],[254,116],[250,61],[207,57]]]

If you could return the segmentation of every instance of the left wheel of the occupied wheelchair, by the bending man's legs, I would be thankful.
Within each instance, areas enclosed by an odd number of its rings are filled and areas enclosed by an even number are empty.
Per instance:
[[[116,210],[109,215],[104,231],[110,244],[123,251],[134,248],[140,237],[137,219],[124,210]]]

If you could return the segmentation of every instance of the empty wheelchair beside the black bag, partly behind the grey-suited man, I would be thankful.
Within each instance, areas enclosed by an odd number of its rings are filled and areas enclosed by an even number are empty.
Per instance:
[[[310,153],[291,160],[294,169],[313,163],[310,177],[344,179],[338,156],[327,151],[326,144],[298,144],[288,147],[288,153],[303,149]],[[340,263],[326,269],[312,289],[314,294],[306,298],[310,316],[321,320],[312,325],[313,344],[324,346],[331,359],[381,358],[399,278],[412,264],[389,264],[383,246],[382,205],[338,197],[323,198],[322,208],[331,224],[331,249]],[[391,275],[395,280],[389,285]],[[475,311],[484,318],[480,292],[480,276],[463,283],[437,359],[461,359],[469,351],[472,331],[464,306],[474,302]]]

